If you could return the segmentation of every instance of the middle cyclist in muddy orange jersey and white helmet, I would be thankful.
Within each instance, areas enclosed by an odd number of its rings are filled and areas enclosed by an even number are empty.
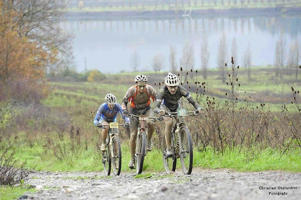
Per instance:
[[[121,103],[123,113],[139,115],[147,114],[150,117],[154,116],[152,107],[150,107],[150,98],[155,101],[157,97],[157,91],[150,85],[146,84],[147,78],[145,75],[139,74],[135,77],[136,84],[129,87]],[[127,110],[127,102],[130,102],[130,110]],[[129,150],[131,160],[128,164],[129,168],[134,168],[135,164],[135,148],[136,138],[138,132],[139,121],[130,118],[130,139],[129,139]],[[147,133],[147,147],[146,150],[152,150],[152,135],[155,131],[155,125],[153,121],[148,120],[148,133]]]

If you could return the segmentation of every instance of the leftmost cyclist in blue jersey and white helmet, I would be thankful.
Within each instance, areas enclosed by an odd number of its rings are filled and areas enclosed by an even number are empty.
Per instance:
[[[94,125],[97,123],[101,125],[109,125],[109,122],[116,122],[117,113],[121,115],[124,119],[124,126],[129,126],[129,118],[123,115],[121,105],[116,102],[116,96],[114,94],[108,93],[105,95],[105,103],[102,103],[95,115]],[[109,128],[102,129],[101,139],[102,144],[100,150],[105,151],[105,139],[107,138]]]

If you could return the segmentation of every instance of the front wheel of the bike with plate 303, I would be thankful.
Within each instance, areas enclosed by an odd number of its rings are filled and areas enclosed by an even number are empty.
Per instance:
[[[184,174],[191,174],[193,165],[192,139],[187,127],[182,126],[178,132],[180,160]]]

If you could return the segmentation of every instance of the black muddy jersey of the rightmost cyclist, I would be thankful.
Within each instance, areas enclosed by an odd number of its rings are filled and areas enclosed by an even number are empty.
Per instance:
[[[178,85],[178,89],[175,94],[171,94],[167,86],[164,85],[163,87],[161,87],[158,93],[154,112],[159,113],[161,103],[167,106],[171,111],[176,111],[180,103],[179,100],[182,96],[184,96],[196,109],[201,107],[201,105],[193,99],[189,91],[182,85]]]

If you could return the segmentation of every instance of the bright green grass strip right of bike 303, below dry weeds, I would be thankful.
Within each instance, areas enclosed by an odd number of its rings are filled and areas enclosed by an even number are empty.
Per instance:
[[[238,171],[285,170],[301,171],[301,150],[290,149],[281,155],[278,149],[241,150],[227,149],[223,154],[207,148],[206,152],[194,153],[194,165],[203,168],[231,168]]]

